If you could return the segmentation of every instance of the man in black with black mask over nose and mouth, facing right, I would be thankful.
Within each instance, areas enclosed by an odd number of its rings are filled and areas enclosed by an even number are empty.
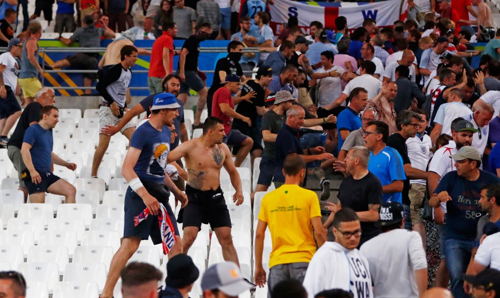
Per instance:
[[[227,52],[227,56],[220,58],[215,66],[214,80],[212,81],[212,86],[210,86],[207,96],[207,109],[209,116],[212,115],[212,97],[214,96],[215,91],[224,87],[221,82],[226,79],[227,75],[237,75],[241,82],[246,80],[246,77],[243,75],[243,71],[241,70],[241,66],[239,65],[239,60],[243,55],[243,44],[237,40],[233,40],[227,45]]]

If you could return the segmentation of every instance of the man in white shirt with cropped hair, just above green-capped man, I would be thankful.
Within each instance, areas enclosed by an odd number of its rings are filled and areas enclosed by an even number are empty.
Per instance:
[[[451,124],[455,118],[472,114],[471,109],[462,102],[463,98],[464,93],[462,90],[455,88],[449,91],[448,102],[439,106],[434,118],[434,128],[430,134],[432,144],[436,142],[441,134],[452,134]]]

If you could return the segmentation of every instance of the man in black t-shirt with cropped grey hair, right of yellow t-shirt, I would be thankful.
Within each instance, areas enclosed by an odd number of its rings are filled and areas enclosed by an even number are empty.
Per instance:
[[[375,222],[379,219],[378,208],[382,204],[382,185],[378,178],[368,171],[369,159],[370,152],[365,147],[356,146],[347,152],[345,172],[349,176],[340,184],[338,204],[326,203],[331,214],[323,224],[323,227],[329,228],[335,213],[341,208],[347,207],[356,211],[363,231],[358,248],[380,234]]]

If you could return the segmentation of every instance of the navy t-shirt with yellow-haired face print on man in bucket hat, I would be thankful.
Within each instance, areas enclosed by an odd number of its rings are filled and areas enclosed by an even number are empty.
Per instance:
[[[164,126],[159,132],[147,121],[132,135],[130,147],[141,150],[134,166],[137,176],[141,180],[163,183],[170,152],[170,130]]]

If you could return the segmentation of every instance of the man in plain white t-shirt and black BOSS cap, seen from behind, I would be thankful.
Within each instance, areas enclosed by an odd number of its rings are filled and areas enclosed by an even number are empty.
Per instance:
[[[418,298],[427,288],[422,239],[418,232],[403,228],[401,203],[383,203],[379,217],[382,233],[360,249],[370,264],[374,297]]]

